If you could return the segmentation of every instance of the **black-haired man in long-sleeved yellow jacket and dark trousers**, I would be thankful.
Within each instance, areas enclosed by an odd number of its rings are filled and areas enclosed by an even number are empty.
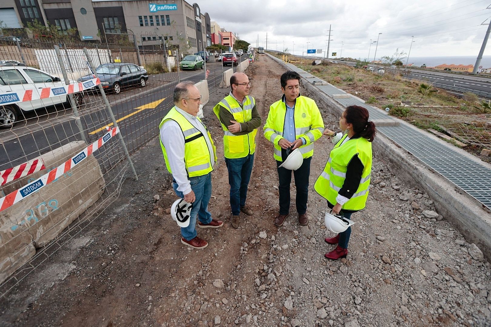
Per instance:
[[[279,214],[274,225],[282,226],[289,216],[290,183],[292,171],[279,167],[289,151],[300,148],[303,163],[294,171],[297,187],[296,206],[299,224],[307,225],[308,179],[310,160],[314,153],[314,141],[322,136],[324,122],[315,101],[300,95],[300,75],[289,71],[281,75],[283,97],[270,106],[268,119],[264,125],[264,136],[274,144],[274,159],[279,179]]]

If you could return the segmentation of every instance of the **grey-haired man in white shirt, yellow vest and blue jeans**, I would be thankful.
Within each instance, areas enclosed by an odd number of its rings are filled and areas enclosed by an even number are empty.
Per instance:
[[[173,177],[177,196],[192,203],[190,224],[181,227],[181,243],[194,249],[204,249],[208,243],[196,233],[196,217],[200,228],[218,228],[223,222],[212,219],[208,202],[212,193],[211,172],[217,154],[210,132],[196,117],[201,95],[191,81],[176,85],[175,106],[159,125],[160,145],[165,166]]]

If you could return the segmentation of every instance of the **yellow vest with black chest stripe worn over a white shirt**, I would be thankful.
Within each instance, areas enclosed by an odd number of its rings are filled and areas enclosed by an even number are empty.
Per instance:
[[[199,118],[196,117],[196,119],[201,122]],[[215,149],[215,145],[213,144],[212,136],[208,129],[206,129],[206,126],[205,129],[213,148],[214,158],[210,157],[210,150],[208,149],[208,144],[206,143],[203,133],[201,133],[196,127],[192,126],[186,117],[176,110],[176,107],[170,109],[167,115],[165,115],[164,119],[162,119],[159,125],[159,130],[168,120],[175,121],[177,124],[179,124],[179,127],[181,127],[181,131],[184,136],[184,164],[186,166],[186,171],[188,172],[188,177],[203,176],[213,171],[213,162],[217,161],[217,151]],[[167,151],[165,151],[162,139],[160,139],[160,146],[162,148],[162,152],[164,153],[165,166],[167,167],[169,173],[172,174],[169,160],[167,158]]]

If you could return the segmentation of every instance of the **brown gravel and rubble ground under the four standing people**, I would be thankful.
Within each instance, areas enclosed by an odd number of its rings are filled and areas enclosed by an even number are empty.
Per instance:
[[[284,69],[258,59],[247,73],[264,124]],[[198,230],[208,248],[180,243],[168,214],[176,196],[154,140],[133,155],[139,181],[128,178],[86,231],[1,300],[2,326],[491,326],[490,263],[383,158],[374,157],[366,209],[352,216],[347,258],[328,261],[326,202],[312,187],[308,226],[298,224],[294,201],[285,224],[273,225],[278,180],[260,129],[248,194],[254,215],[241,214],[233,229],[212,113],[227,93],[210,94],[204,110],[220,158],[210,211],[225,221]],[[338,117],[320,109],[335,128]],[[326,138],[316,142],[311,186],[332,147]]]

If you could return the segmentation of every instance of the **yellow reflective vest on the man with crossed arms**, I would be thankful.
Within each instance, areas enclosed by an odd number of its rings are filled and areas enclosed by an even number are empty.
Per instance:
[[[255,103],[254,98],[246,96],[243,108],[241,108],[237,100],[228,95],[213,108],[213,112],[215,112],[219,121],[220,106],[224,107],[234,116],[234,120],[237,123],[245,123],[252,119],[252,108],[254,108]],[[256,151],[257,128],[244,135],[234,135],[228,130],[227,126],[221,124],[221,127],[223,128],[224,134],[223,147],[225,158],[244,158],[248,154],[254,154],[254,151]]]

